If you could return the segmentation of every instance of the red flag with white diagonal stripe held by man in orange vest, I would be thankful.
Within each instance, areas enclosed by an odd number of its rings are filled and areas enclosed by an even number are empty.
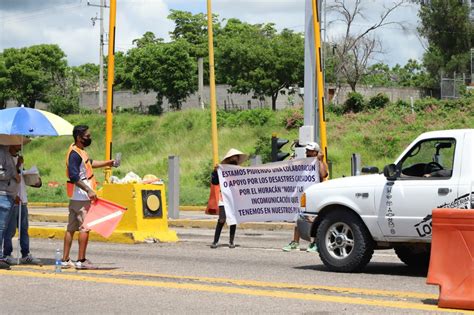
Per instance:
[[[87,211],[83,226],[107,238],[112,235],[125,210],[127,208],[121,205],[97,198],[97,201],[93,202]]]

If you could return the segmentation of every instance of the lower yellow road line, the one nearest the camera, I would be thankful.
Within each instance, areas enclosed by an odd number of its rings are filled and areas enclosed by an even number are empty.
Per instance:
[[[305,300],[315,302],[326,302],[326,303],[343,303],[343,304],[354,304],[354,305],[365,305],[383,308],[393,309],[405,309],[405,310],[421,310],[421,311],[432,311],[432,312],[450,312],[459,313],[459,310],[453,309],[441,309],[436,305],[427,305],[423,303],[411,303],[403,301],[387,301],[387,300],[373,300],[365,298],[354,298],[354,297],[343,297],[343,296],[328,296],[310,293],[295,293],[281,290],[258,290],[258,289],[246,289],[246,288],[233,288],[228,286],[213,286],[203,284],[192,284],[192,283],[176,283],[176,282],[161,282],[161,281],[146,281],[146,280],[133,280],[133,279],[119,279],[119,278],[104,278],[104,277],[90,277],[83,275],[74,274],[54,274],[54,273],[38,273],[33,271],[17,271],[17,270],[0,270],[0,275],[4,277],[30,277],[30,278],[42,278],[42,279],[61,279],[67,281],[81,281],[91,283],[105,283],[105,284],[121,284],[128,286],[142,286],[142,287],[155,287],[165,289],[180,289],[180,290],[192,290],[198,292],[212,292],[219,294],[239,294],[245,296],[260,296],[269,298],[282,298],[282,299],[294,299],[294,300]],[[471,312],[474,314],[474,312]]]

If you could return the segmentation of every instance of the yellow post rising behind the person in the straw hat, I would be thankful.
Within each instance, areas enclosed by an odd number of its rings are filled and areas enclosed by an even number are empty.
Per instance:
[[[209,45],[209,88],[211,92],[212,161],[214,165],[217,165],[219,163],[219,151],[217,144],[216,79],[214,76],[214,38],[212,34],[211,0],[207,0],[207,34]]]

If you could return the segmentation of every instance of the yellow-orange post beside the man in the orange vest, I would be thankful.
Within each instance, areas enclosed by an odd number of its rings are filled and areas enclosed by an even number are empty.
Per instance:
[[[112,159],[112,116],[113,116],[113,86],[114,86],[114,67],[115,67],[115,16],[116,0],[110,0],[110,18],[109,18],[109,55],[107,67],[107,111],[105,114],[105,159]],[[105,182],[108,183],[112,175],[112,168],[107,167],[104,170]]]

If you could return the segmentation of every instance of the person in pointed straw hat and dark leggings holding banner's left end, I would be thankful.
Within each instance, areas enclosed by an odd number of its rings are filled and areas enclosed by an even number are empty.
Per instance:
[[[240,165],[248,159],[248,155],[240,152],[236,149],[230,149],[224,159],[221,161],[221,164],[231,164],[231,165]],[[212,185],[219,185],[219,175],[217,173],[217,166],[214,168],[214,171],[211,174],[211,183]],[[216,231],[214,232],[214,241],[211,244],[211,248],[217,248],[217,243],[221,236],[222,228],[224,227],[226,221],[224,202],[222,200],[222,194],[219,196],[219,219],[217,220]],[[237,225],[233,224],[229,226],[230,235],[229,235],[229,248],[235,248],[234,238]]]

